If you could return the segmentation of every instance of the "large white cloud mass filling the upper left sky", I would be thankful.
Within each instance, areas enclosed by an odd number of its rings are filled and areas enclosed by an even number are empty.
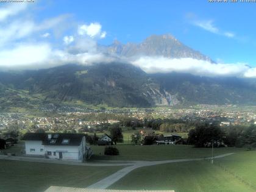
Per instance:
[[[56,46],[47,37],[53,33],[56,38],[55,30],[66,29],[65,26],[68,25],[63,21],[69,15],[46,18],[36,23],[26,13],[18,14],[24,9],[26,6],[0,9],[0,22],[12,16],[8,22],[0,25],[0,68],[39,69],[67,63],[91,65],[94,62],[113,60],[97,51],[96,40],[105,38],[107,34],[101,30],[101,24],[79,26],[76,34],[62,37],[65,46]],[[70,25],[74,26],[74,23],[69,23]],[[54,42],[58,44],[58,40]]]

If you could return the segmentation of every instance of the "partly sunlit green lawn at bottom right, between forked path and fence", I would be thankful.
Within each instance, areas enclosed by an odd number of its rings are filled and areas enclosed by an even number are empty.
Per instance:
[[[254,191],[218,166],[204,160],[135,169],[109,188],[176,192]]]

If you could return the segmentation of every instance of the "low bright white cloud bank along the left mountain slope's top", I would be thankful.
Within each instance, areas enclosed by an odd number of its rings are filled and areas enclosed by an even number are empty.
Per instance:
[[[51,44],[17,44],[12,49],[0,51],[0,68],[5,69],[41,69],[70,63],[92,65],[93,63],[112,62],[99,52],[72,54],[60,49],[52,49]]]

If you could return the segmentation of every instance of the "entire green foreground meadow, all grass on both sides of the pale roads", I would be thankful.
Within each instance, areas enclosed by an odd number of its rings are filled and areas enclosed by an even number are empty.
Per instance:
[[[4,151],[17,154],[23,149],[21,145]],[[105,146],[91,146],[94,155],[90,162],[98,160],[121,160],[123,162],[127,160],[171,160],[204,158],[212,155],[211,148],[194,148],[188,145],[133,146],[132,144],[117,144],[115,147],[119,149],[120,155],[118,156],[103,155]],[[256,183],[256,151],[246,150],[245,148],[215,148],[214,155],[230,152],[235,152],[235,154],[215,159],[214,165],[208,160],[199,160],[138,168],[109,188],[175,190],[176,192],[256,191],[256,188],[230,174],[230,172],[235,172],[249,183]],[[0,191],[43,191],[51,185],[84,188],[123,168],[123,166],[73,166],[12,160],[0,160],[0,166]],[[223,166],[226,170],[223,169]]]

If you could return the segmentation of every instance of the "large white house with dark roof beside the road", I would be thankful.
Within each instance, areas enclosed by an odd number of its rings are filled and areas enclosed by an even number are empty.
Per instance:
[[[85,145],[85,135],[78,133],[26,133],[26,155],[43,155],[60,160],[86,160],[91,150]]]

